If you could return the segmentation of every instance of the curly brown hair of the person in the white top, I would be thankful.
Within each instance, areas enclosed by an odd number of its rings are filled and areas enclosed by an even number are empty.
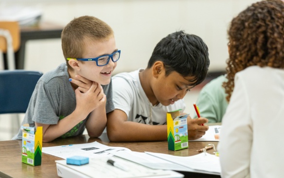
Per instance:
[[[249,66],[284,68],[284,2],[253,3],[232,19],[228,36],[228,81],[223,87],[229,102],[236,72]]]

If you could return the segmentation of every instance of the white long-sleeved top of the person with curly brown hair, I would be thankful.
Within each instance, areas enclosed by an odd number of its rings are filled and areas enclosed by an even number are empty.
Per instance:
[[[283,177],[284,70],[236,73],[218,151],[224,178]]]

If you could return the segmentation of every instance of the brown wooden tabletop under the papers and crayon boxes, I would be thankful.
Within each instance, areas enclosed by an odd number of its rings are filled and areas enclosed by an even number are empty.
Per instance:
[[[43,142],[43,147],[79,144],[89,142],[100,142],[107,146],[121,146],[129,148],[132,151],[138,152],[156,152],[175,156],[193,156],[198,154],[198,149],[204,148],[207,144],[214,143],[217,146],[218,142],[189,142],[189,148],[171,151],[168,150],[166,141],[161,142],[109,142],[106,133],[99,138],[89,138],[88,135],[81,135],[65,139],[56,139],[53,142]],[[21,162],[21,147],[22,141],[2,141],[0,142],[0,177],[2,178],[57,178],[55,160],[62,160],[47,154],[42,154],[40,166],[31,166]],[[213,149],[208,150],[208,153],[213,154]],[[185,177],[194,178],[220,178],[216,175],[198,174],[181,172]]]

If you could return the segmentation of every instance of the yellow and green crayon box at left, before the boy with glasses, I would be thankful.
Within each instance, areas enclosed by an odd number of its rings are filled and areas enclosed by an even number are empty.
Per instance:
[[[22,135],[22,162],[38,166],[41,165],[42,126],[21,126]]]

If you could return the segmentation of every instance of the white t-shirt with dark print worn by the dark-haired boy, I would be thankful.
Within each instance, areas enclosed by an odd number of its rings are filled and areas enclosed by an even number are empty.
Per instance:
[[[112,77],[113,103],[115,109],[124,111],[128,121],[148,125],[165,125],[166,113],[177,109],[185,109],[184,100],[178,100],[174,105],[153,106],[142,89],[139,72],[123,72]],[[151,123],[152,121],[152,123]]]

